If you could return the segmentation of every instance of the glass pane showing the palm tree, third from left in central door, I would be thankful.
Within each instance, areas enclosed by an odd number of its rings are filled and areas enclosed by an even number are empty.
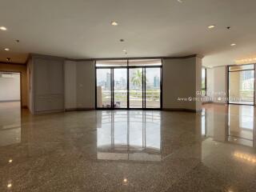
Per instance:
[[[129,103],[130,108],[142,108],[143,100],[143,72],[142,68],[129,69]]]

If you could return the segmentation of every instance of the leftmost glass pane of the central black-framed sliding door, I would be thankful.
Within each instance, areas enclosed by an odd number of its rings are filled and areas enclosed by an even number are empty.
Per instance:
[[[111,70],[97,69],[97,107],[111,108]]]

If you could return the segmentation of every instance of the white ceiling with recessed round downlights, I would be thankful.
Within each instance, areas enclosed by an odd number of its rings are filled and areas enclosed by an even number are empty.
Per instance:
[[[229,65],[256,56],[255,7],[255,0],[2,0],[0,26],[8,30],[0,30],[0,60],[25,62],[28,53],[66,58],[201,54],[205,66]],[[111,26],[113,20],[119,25]],[[212,24],[216,27],[209,30]],[[230,46],[233,42],[237,46]]]

